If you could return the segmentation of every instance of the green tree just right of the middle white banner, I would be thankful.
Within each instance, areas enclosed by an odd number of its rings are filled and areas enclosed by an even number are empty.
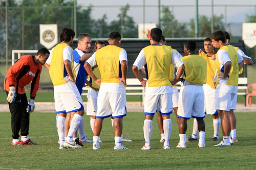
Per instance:
[[[188,29],[186,23],[179,23],[168,7],[162,6],[162,17],[160,19],[161,29],[165,37],[187,37]]]

